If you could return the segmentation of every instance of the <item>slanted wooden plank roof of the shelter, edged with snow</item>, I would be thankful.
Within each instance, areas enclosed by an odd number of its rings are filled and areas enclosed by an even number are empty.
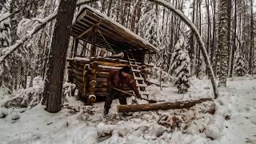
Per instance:
[[[115,52],[143,51],[155,53],[156,47],[146,42],[118,22],[114,22],[90,6],[84,6],[72,26],[71,35],[89,43],[93,42],[94,27],[97,27],[96,46],[113,49]]]

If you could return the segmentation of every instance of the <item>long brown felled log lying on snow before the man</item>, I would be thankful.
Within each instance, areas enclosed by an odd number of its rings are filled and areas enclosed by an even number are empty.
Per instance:
[[[183,101],[183,102],[161,102],[161,103],[147,103],[138,105],[119,105],[117,106],[118,113],[122,112],[136,112],[136,111],[150,111],[150,110],[170,110],[188,108],[206,101],[212,101],[212,98],[201,98],[198,100]]]

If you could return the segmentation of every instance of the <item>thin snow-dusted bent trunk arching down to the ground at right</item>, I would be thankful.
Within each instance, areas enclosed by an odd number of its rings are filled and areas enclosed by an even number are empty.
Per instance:
[[[177,14],[179,18],[182,19],[182,21],[184,21],[188,26],[190,26],[190,29],[194,31],[194,34],[196,36],[196,38],[198,39],[198,43],[199,43],[199,48],[202,50],[202,54],[204,56],[204,58],[206,59],[206,65],[208,66],[209,70],[210,70],[210,74],[211,74],[211,83],[213,85],[213,89],[214,89],[214,98],[218,98],[218,88],[217,88],[217,82],[216,82],[216,78],[214,76],[214,70],[211,67],[210,64],[210,58],[208,57],[208,54],[206,52],[206,46],[204,45],[204,43],[202,42],[202,38],[200,36],[200,33],[197,29],[196,26],[194,26],[194,23],[190,21],[189,18],[186,17],[185,14],[182,13],[181,10],[177,10],[175,9],[174,6],[172,6],[169,2],[166,2],[164,0],[149,0],[150,2],[155,2],[158,5],[164,6],[166,7],[168,10],[172,11],[174,14]]]

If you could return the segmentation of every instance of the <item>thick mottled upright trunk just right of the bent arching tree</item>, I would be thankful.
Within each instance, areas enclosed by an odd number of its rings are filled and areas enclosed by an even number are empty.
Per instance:
[[[220,76],[219,87],[226,87],[226,78],[228,72],[228,0],[220,0],[219,5],[219,34],[218,34],[218,47],[220,51]]]

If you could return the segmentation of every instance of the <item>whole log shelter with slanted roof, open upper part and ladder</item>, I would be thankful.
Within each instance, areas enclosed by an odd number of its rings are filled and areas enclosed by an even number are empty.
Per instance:
[[[138,90],[146,95],[144,78],[149,65],[144,63],[145,54],[158,52],[150,42],[90,6],[78,11],[71,36],[68,80],[76,85],[85,102],[102,101],[107,94],[106,78],[110,70],[123,66],[131,66]],[[130,91],[128,86],[126,90]]]

